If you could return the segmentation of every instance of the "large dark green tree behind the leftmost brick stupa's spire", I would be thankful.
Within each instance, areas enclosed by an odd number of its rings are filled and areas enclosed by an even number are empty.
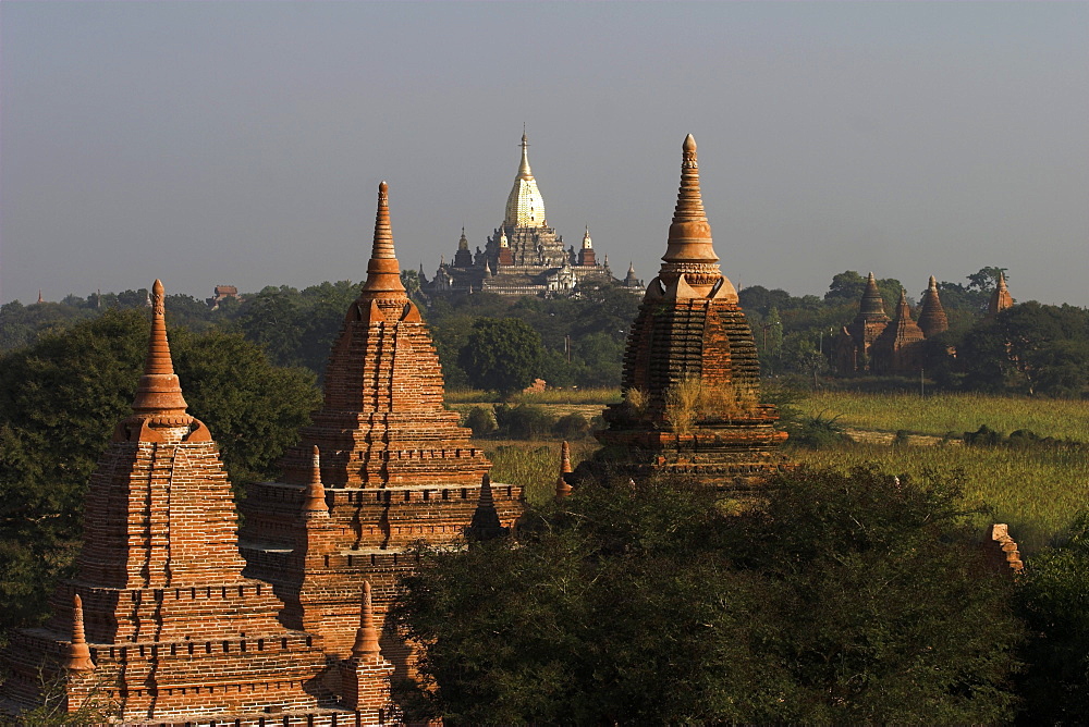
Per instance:
[[[0,356],[0,630],[37,619],[75,555],[87,484],[132,411],[148,331],[143,310],[111,310]],[[171,349],[232,481],[271,473],[317,408],[313,374],[271,366],[238,334],[173,331]]]

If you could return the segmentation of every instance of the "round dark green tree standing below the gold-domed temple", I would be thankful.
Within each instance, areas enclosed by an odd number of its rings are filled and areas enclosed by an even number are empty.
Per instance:
[[[480,318],[457,361],[474,386],[505,396],[525,389],[540,374],[542,356],[540,334],[524,321]]]

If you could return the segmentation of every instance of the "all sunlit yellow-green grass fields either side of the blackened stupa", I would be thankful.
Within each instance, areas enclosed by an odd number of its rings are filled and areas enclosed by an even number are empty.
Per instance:
[[[549,392],[546,392],[549,393]],[[566,394],[542,401],[528,399],[566,412],[578,410],[589,418],[615,391],[582,392],[586,398]],[[486,402],[479,392],[452,407],[468,408]],[[966,504],[984,504],[990,514],[979,518],[980,532],[991,522],[1006,522],[1023,551],[1031,553],[1061,533],[1073,516],[1089,505],[1089,403],[1041,401],[970,394],[940,394],[920,398],[911,394],[822,393],[794,405],[804,414],[837,416],[837,423],[862,430],[910,431],[937,436],[946,432],[960,435],[980,424],[1008,434],[1029,429],[1041,436],[1085,443],[1068,447],[966,447],[843,444],[830,449],[790,448],[799,464],[835,469],[873,465],[889,475],[919,476],[926,471],[962,478]],[[562,411],[561,411],[562,410]],[[530,502],[551,496],[559,472],[559,442],[505,442],[478,440],[494,464],[499,482],[522,484]],[[572,460],[577,465],[597,448],[587,439],[572,443]]]

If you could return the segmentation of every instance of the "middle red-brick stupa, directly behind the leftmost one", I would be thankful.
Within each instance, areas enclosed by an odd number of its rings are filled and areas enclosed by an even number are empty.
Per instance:
[[[322,408],[284,455],[283,481],[248,489],[241,540],[247,575],[273,583],[284,623],[320,634],[330,657],[352,653],[368,581],[382,653],[403,675],[408,651],[383,621],[414,564],[406,547],[462,538],[481,496],[510,527],[522,493],[482,489],[491,464],[443,408],[435,346],[401,284],[387,193],[383,182],[367,280],[329,357]]]

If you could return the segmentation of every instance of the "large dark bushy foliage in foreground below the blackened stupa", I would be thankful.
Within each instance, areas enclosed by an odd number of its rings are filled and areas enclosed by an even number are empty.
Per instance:
[[[724,515],[678,482],[588,485],[513,539],[425,552],[394,611],[414,718],[993,723],[1020,628],[957,483],[804,471]]]

